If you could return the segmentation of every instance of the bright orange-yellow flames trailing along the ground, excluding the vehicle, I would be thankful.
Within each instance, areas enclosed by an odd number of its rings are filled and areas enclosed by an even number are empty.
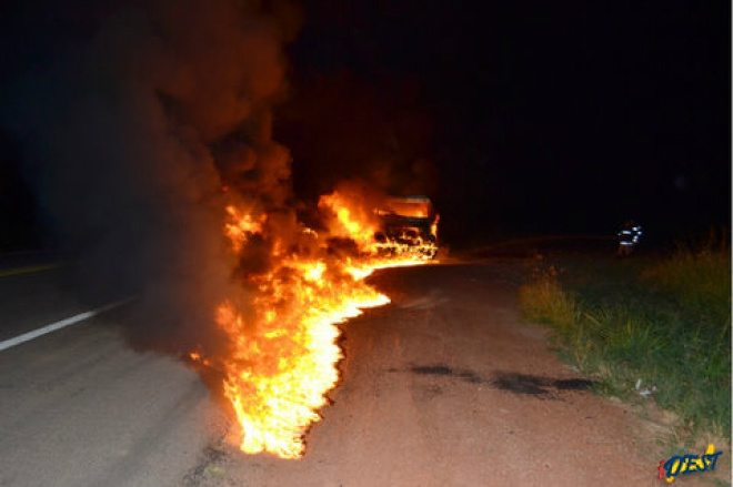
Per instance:
[[[224,394],[241,426],[240,447],[248,454],[304,454],[303,435],[320,419],[318,409],[327,405],[325,394],[339,379],[337,325],[390,302],[364,280],[376,268],[426,262],[410,254],[379,255],[373,210],[360,209],[339,193],[323,196],[319,206],[335,216],[324,235],[353,240],[358,253],[334,255],[328,237],[305,227],[300,247],[310,250],[301,252],[269,233],[265,214],[227,209],[223,232],[234,254],[254,235],[271,242],[268,271],[245,277],[249,297],[227,300],[215,311],[231,346],[215,366],[225,375]]]

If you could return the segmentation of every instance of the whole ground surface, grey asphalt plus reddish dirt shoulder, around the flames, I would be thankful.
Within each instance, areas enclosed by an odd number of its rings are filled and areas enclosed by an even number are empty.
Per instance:
[[[660,485],[640,419],[521,324],[523,265],[375,276],[392,304],[342,326],[341,382],[300,460],[241,454],[211,377],[131,349],[119,310],[2,351],[0,486]],[[0,339],[83,311],[61,272],[0,277]]]

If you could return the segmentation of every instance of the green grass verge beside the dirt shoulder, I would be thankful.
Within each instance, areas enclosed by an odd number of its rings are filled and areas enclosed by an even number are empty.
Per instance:
[[[542,261],[520,303],[528,319],[551,327],[562,357],[599,392],[647,396],[687,432],[730,438],[727,235],[712,232],[664,257]]]

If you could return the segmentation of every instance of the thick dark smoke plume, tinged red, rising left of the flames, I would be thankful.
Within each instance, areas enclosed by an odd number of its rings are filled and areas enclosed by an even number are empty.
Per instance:
[[[270,110],[298,11],[69,0],[9,16],[0,123],[22,146],[49,235],[79,262],[83,295],[139,296],[143,345],[214,346],[212,310],[237,265],[224,206],[292,220],[290,154]]]

